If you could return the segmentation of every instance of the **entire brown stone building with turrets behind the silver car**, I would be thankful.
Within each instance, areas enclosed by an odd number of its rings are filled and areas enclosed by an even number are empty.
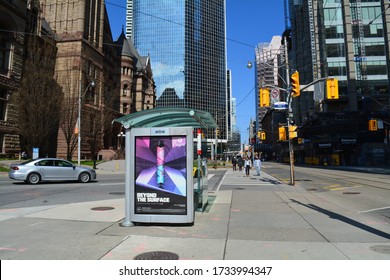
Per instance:
[[[119,45],[113,41],[103,0],[5,2],[0,1],[0,155],[21,151],[18,108],[10,97],[20,86],[27,25],[55,39],[55,69],[48,75],[64,100],[55,139],[50,140],[53,156],[77,158],[79,132],[81,159],[104,151],[116,155],[121,128],[112,120],[155,107],[150,58],[141,57],[127,40]],[[34,13],[26,12],[32,6]]]

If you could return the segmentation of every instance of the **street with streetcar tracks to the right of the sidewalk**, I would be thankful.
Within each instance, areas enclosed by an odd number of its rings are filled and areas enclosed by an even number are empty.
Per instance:
[[[265,163],[264,171],[290,182],[289,165]],[[294,167],[295,184],[346,210],[374,215],[390,222],[390,175]]]

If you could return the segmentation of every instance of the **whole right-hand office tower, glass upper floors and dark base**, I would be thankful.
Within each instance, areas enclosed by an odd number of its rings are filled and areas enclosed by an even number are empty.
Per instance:
[[[290,69],[314,89],[295,98],[299,162],[390,165],[389,2],[289,0]],[[338,79],[339,98],[319,80]],[[377,121],[378,128],[369,127]]]

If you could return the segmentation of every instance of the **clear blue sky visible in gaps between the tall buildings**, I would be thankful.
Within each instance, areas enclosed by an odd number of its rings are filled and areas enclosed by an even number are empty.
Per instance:
[[[145,0],[147,1],[147,0]],[[270,42],[285,28],[284,0],[226,0],[227,66],[232,71],[233,97],[237,99],[237,126],[241,142],[248,143],[248,127],[255,117],[254,60],[258,43]],[[116,40],[126,26],[126,0],[106,1],[111,32]]]

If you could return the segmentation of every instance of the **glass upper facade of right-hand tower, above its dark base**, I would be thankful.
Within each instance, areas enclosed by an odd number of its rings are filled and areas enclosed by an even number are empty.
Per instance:
[[[325,102],[325,110],[358,111],[373,98],[389,105],[389,10],[382,0],[290,0],[291,68],[300,72],[301,84],[339,80],[342,98]],[[314,99],[324,97],[322,91]],[[298,121],[311,106],[294,112]]]

